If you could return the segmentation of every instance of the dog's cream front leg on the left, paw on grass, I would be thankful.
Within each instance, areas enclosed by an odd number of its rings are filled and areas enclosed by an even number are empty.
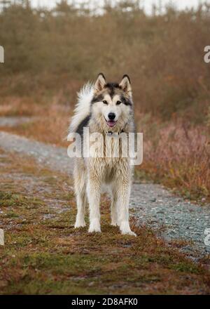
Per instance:
[[[90,228],[88,232],[101,232],[99,202],[101,181],[97,175],[89,173],[87,181],[87,197],[90,207]]]

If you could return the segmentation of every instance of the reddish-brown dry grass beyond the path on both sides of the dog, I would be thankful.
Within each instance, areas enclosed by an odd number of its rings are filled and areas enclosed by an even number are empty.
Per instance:
[[[33,114],[32,107],[26,107]],[[21,109],[19,111],[21,113]],[[65,137],[71,110],[54,104],[36,107],[34,115],[38,114],[40,116],[31,123],[1,129],[67,147]],[[181,119],[170,123],[157,121],[149,114],[138,112],[137,127],[138,131],[144,132],[144,162],[137,166],[137,179],[153,180],[188,199],[209,202],[210,144],[207,128],[183,123]]]

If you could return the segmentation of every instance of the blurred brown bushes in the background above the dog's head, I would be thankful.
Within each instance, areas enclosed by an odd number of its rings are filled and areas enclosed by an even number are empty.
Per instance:
[[[154,9],[153,15],[146,15],[139,1],[105,4],[103,14],[66,1],[51,11],[32,10],[29,1],[1,11],[1,100],[39,100],[56,91],[73,100],[72,87],[75,91],[98,72],[111,80],[127,73],[139,112],[206,123],[210,64],[203,58],[209,45],[210,7],[176,11],[169,6],[164,14]]]

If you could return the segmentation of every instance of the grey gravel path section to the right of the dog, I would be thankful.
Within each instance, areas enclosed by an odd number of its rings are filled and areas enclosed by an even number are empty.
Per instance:
[[[153,228],[167,242],[187,240],[183,252],[195,261],[210,253],[205,230],[210,230],[210,205],[200,206],[176,197],[160,185],[134,184],[130,207],[138,222]]]

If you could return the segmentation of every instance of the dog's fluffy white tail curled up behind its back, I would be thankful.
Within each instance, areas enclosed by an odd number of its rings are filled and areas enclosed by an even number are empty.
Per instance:
[[[89,81],[78,93],[78,103],[73,111],[69,133],[75,133],[79,124],[90,115],[90,105],[93,98],[94,86]]]

